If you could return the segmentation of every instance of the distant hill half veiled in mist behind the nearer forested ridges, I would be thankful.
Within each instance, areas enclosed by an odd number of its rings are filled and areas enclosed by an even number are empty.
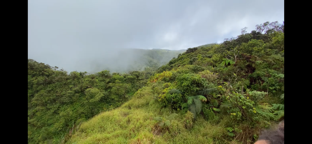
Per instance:
[[[110,57],[99,57],[90,61],[88,67],[83,68],[90,73],[109,70],[110,72],[128,72],[144,70],[146,67],[157,69],[168,63],[173,57],[186,50],[162,50],[162,49],[120,49]],[[83,66],[83,65],[81,65]]]

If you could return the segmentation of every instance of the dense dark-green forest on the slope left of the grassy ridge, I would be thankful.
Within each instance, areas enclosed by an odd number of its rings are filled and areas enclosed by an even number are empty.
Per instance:
[[[120,106],[148,78],[146,71],[68,74],[28,59],[28,143],[68,140],[75,123]]]

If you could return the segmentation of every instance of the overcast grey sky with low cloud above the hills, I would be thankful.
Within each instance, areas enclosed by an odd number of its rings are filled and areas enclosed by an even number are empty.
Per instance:
[[[284,0],[28,0],[28,58],[66,71],[131,62],[124,48],[188,49],[284,21]]]

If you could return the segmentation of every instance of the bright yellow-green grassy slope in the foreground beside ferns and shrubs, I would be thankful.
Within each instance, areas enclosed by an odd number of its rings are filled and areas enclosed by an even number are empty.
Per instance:
[[[81,125],[68,144],[93,143],[227,143],[222,123],[211,124],[203,118],[197,118],[193,128],[185,128],[185,114],[171,120],[168,129],[162,132],[155,117],[168,118],[176,111],[161,108],[155,100],[151,87],[144,87],[121,107],[100,113]],[[225,119],[224,119],[225,120]]]

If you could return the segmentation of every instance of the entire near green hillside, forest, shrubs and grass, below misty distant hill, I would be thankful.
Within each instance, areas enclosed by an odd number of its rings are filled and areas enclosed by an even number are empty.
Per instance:
[[[28,60],[28,143],[254,143],[284,119],[284,24],[241,33],[156,73],[67,74]]]

